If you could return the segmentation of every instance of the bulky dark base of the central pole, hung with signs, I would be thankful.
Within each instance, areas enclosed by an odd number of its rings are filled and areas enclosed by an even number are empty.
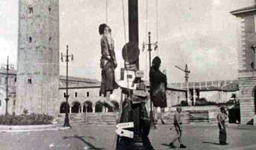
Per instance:
[[[146,92],[146,85],[141,80],[141,77],[135,77],[131,86],[125,84],[125,82],[119,81],[122,94],[126,95],[124,102],[121,104],[122,110],[119,123],[133,122],[134,127],[127,128],[126,130],[134,132],[134,137],[126,138],[118,136],[117,149],[154,150],[149,139],[150,118],[146,109],[149,96]],[[142,142],[142,146],[138,144],[140,142]]]

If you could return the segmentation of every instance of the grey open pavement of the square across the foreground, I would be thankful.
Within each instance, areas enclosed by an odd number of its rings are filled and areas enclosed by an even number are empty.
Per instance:
[[[150,141],[155,149],[171,149],[168,144],[176,135],[169,130],[170,125],[159,125],[157,130],[150,131]],[[59,131],[27,131],[1,132],[0,149],[15,150],[79,150],[79,149],[115,149],[115,126],[72,126],[68,130]],[[227,146],[218,143],[219,129],[217,126],[186,125],[184,126],[183,142],[186,149],[225,149],[250,150],[256,149],[256,127],[228,125]],[[175,143],[178,146],[178,143]],[[179,149],[179,148],[176,148]]]

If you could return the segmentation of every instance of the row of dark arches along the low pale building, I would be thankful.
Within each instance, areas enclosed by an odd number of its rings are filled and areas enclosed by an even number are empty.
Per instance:
[[[73,102],[71,107],[66,102],[62,102],[60,106],[60,113],[66,113],[66,107],[68,113],[85,113],[85,112],[103,112],[107,108],[107,112],[115,112],[119,110],[119,104],[116,101],[111,101],[115,107],[108,107],[104,103],[97,101],[95,106],[93,106],[91,101],[86,101],[83,104],[80,102]]]

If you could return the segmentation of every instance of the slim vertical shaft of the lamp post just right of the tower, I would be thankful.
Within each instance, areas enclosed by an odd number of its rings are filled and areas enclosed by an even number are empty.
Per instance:
[[[67,45],[67,55],[66,55],[66,115],[65,115],[65,122],[64,122],[64,127],[70,127],[70,121],[68,119],[68,84],[67,84],[67,76],[68,76],[68,45]]]

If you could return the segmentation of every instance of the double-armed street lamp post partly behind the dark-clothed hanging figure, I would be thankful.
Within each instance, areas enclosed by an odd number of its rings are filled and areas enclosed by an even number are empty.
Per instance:
[[[154,50],[156,50],[157,49],[157,42],[155,42],[155,43],[151,43],[151,40],[150,40],[150,35],[151,35],[151,33],[149,32],[149,43],[142,43],[142,50],[144,51],[144,49],[145,49],[145,45],[148,45],[149,46],[149,48],[147,49],[148,51],[149,51],[149,69],[151,68],[151,51],[152,51],[152,49],[151,49],[151,45],[152,44],[154,44],[155,45],[155,48],[154,48]],[[155,126],[155,124],[154,124],[154,115],[153,115],[153,111],[152,111],[152,100],[151,100],[151,84],[150,84],[150,90],[149,90],[149,94],[150,94],[150,128],[151,129],[156,129],[156,126]]]

